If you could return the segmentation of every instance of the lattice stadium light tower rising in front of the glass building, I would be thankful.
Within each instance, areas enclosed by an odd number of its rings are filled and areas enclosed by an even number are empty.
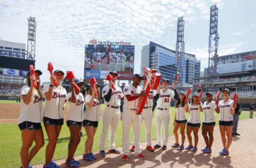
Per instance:
[[[184,42],[184,24],[183,16],[178,18],[177,22],[177,41],[176,41],[176,51],[175,51],[175,68],[178,75],[180,75],[179,83],[182,85],[182,71],[184,65],[185,57],[185,42]]]

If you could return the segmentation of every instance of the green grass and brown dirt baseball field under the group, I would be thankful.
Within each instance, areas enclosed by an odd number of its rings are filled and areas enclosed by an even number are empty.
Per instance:
[[[16,103],[13,100],[0,100],[0,107],[1,107],[0,108],[0,131],[1,131],[0,167],[19,167],[21,165],[20,148],[21,148],[22,142],[21,142],[21,131],[18,128],[18,124],[17,124],[18,120],[17,119],[19,117],[20,104]],[[104,105],[101,105],[101,116],[102,116],[103,108],[104,108]],[[65,111],[65,114],[66,113],[67,113],[67,109]],[[218,114],[216,114],[215,116],[216,116],[216,119],[218,119]],[[254,116],[256,116],[256,115],[254,114]],[[233,157],[235,154],[235,156],[238,158],[240,157],[239,151],[241,151],[243,154],[246,154],[246,155],[250,154],[248,152],[246,153],[247,150],[249,150],[249,152],[256,151],[255,148],[248,146],[251,141],[252,141],[252,144],[254,144],[253,141],[255,141],[256,136],[255,136],[255,131],[254,131],[255,129],[253,127],[255,125],[254,124],[255,122],[253,122],[253,120],[255,120],[255,119],[247,119],[247,118],[249,118],[249,113],[244,112],[244,111],[242,112],[242,114],[239,117],[240,117],[239,120],[242,120],[242,121],[239,121],[239,124],[238,124],[238,132],[241,133],[241,139],[240,139],[240,137],[235,137],[233,139],[233,144],[231,145],[231,148],[230,148],[231,151],[233,150],[233,148],[236,149],[236,153],[231,152],[231,157]],[[202,120],[202,118],[203,118],[203,114],[201,114],[201,120]],[[172,136],[173,135],[173,133],[172,133],[173,125],[171,124],[173,119],[174,119],[174,108],[171,107],[171,121],[170,121],[170,126],[169,126],[170,127],[169,144],[172,144],[174,142],[174,137]],[[243,119],[245,119],[245,120],[243,120]],[[217,120],[217,124],[218,124],[218,120]],[[46,135],[44,127],[43,127],[43,131],[44,131],[45,145],[43,148],[41,148],[39,150],[37,155],[31,161],[32,165],[40,164],[37,167],[42,167],[42,164],[45,161],[45,148],[46,148],[48,139],[47,139],[47,135]],[[98,153],[98,151],[99,151],[99,141],[100,141],[101,131],[102,131],[102,119],[100,119],[99,127],[98,127],[96,135],[94,137],[93,152]],[[251,132],[252,134],[250,133],[250,131],[253,131],[253,132]],[[83,129],[83,134],[85,135],[84,129]],[[244,135],[246,135],[247,137]],[[130,142],[132,141],[132,136],[133,136],[133,131],[132,131],[132,129],[130,129]],[[60,132],[57,147],[56,147],[56,150],[54,153],[54,160],[64,159],[67,157],[67,152],[68,152],[67,147],[68,147],[69,137],[70,137],[70,132],[65,123]],[[141,137],[141,142],[145,142],[144,124],[142,124],[142,127],[141,127],[140,137]],[[215,153],[217,153],[217,155],[218,155],[218,152],[222,149],[221,148],[222,144],[220,141],[220,133],[219,133],[218,127],[215,127],[214,138],[217,140],[214,139],[213,147],[218,146],[218,149],[214,149]],[[153,119],[153,124],[152,124],[152,129],[151,129],[151,139],[156,139],[155,116]],[[242,140],[242,139],[244,139],[244,140]],[[81,155],[84,152],[85,140],[86,140],[86,136],[82,137],[81,142],[80,142],[79,146],[77,147],[75,155],[78,157],[78,159],[82,159]],[[239,142],[237,142],[237,140],[239,140]],[[246,144],[246,141],[248,141],[249,144]],[[218,144],[217,144],[217,142],[218,142]],[[236,146],[236,142],[237,142],[237,145],[239,145],[239,146]],[[117,131],[116,131],[115,144],[116,144],[116,147],[122,146],[122,121],[119,122]],[[156,141],[153,140],[153,145],[155,145],[155,144],[156,144]],[[107,149],[108,142],[106,142],[106,145],[107,145],[106,146],[106,149]],[[187,145],[188,145],[188,141],[186,139],[185,146],[187,146]],[[142,143],[142,147],[143,147],[143,149],[145,149],[145,143]],[[173,149],[170,149],[170,145],[169,145],[169,146],[167,146],[167,150],[163,153],[162,153],[161,149],[157,150],[154,153],[150,153],[146,150],[143,150],[143,154],[145,154],[145,156],[146,156],[145,161],[135,159],[134,157],[131,156],[132,158],[129,158],[130,160],[128,162],[126,162],[126,164],[124,164],[123,161],[121,160],[121,156],[119,156],[119,155],[109,154],[109,155],[107,155],[107,157],[102,158],[97,154],[96,156],[98,156],[98,159],[96,161],[93,161],[89,165],[93,166],[93,167],[102,167],[103,165],[105,165],[105,167],[106,167],[106,163],[109,162],[109,164],[110,163],[114,164],[113,167],[115,167],[115,165],[117,167],[117,163],[120,162],[120,163],[122,163],[121,164],[122,166],[127,166],[127,167],[136,167],[136,166],[140,167],[143,165],[145,165],[146,167],[156,167],[156,166],[164,166],[164,164],[166,164],[167,166],[168,165],[169,166],[179,165],[179,166],[183,167],[183,166],[187,165],[186,159],[188,159],[188,164],[190,163],[189,165],[191,165],[192,167],[193,166],[195,166],[195,167],[197,167],[197,166],[213,167],[215,165],[217,165],[217,167],[218,167],[218,163],[222,163],[221,159],[223,157],[218,156],[218,157],[214,158],[213,155],[215,155],[215,153],[212,153],[205,157],[205,155],[203,155],[201,152],[199,152],[199,149],[201,149],[199,147],[202,147],[202,148],[204,147],[204,141],[203,141],[201,132],[199,132],[198,151],[197,151],[197,153],[193,153],[191,155],[189,155],[189,152],[187,152],[185,150],[184,150],[184,152],[178,152],[178,153],[174,152]],[[254,145],[254,147],[255,147],[255,145]],[[118,148],[118,149],[121,150],[122,148]],[[173,153],[173,155],[172,155],[172,153]],[[183,154],[183,153],[185,153],[185,154]],[[149,163],[148,161],[150,160],[150,157],[148,157],[148,156],[151,156],[151,157],[154,156],[154,158],[152,158],[152,161],[154,161],[154,162]],[[241,155],[241,156],[243,156],[243,155]],[[112,157],[113,158],[117,157],[116,159],[113,159],[113,161],[115,161],[115,162],[110,162],[110,159]],[[159,161],[158,161],[157,157],[159,157]],[[193,158],[191,158],[191,157],[193,157]],[[207,161],[207,164],[200,163],[201,162],[199,159],[200,157],[205,157],[205,159],[206,159],[205,161]],[[225,167],[234,167],[234,166],[230,165],[231,157],[226,156],[225,160],[223,160],[223,165],[226,165]],[[243,157],[245,157],[245,156],[243,156]],[[199,160],[195,161],[196,158],[198,158]],[[250,157],[246,157],[245,159],[249,159],[249,158]],[[219,159],[220,159],[220,161],[217,161]],[[174,162],[174,161],[176,161],[176,162]],[[61,167],[65,167],[65,164],[62,164],[62,162],[64,162],[64,160],[58,161],[58,163],[61,164]],[[82,161],[82,162],[84,162],[84,163],[81,164],[81,166],[88,166],[88,164],[87,164],[88,162],[85,162],[85,161]],[[198,162],[198,165],[195,164],[196,162]],[[215,162],[215,164],[214,164],[214,162]],[[95,165],[93,165],[94,163],[95,163]],[[229,164],[227,164],[227,163],[229,163]],[[234,162],[234,164],[235,164],[235,162]],[[213,166],[211,166],[211,165],[213,165]],[[251,165],[252,164],[249,164],[249,165],[247,165],[247,167],[248,166],[250,167]]]

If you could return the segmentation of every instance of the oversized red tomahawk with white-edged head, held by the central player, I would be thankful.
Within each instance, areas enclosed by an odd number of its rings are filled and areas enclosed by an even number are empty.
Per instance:
[[[143,107],[146,103],[150,89],[151,90],[157,89],[157,86],[159,85],[159,82],[161,80],[161,75],[159,73],[157,73],[156,70],[150,69],[150,68],[143,68],[143,70],[144,70],[145,76],[147,78],[146,85],[143,88],[143,91],[145,91],[146,96],[140,97],[140,99],[139,99],[139,103],[136,108],[136,114],[138,114],[138,115],[141,114],[141,112],[143,110]]]

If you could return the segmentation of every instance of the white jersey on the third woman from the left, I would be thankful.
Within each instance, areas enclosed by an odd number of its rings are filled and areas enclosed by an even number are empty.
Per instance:
[[[68,93],[68,99],[72,97],[72,93]],[[73,103],[73,102],[69,102],[69,110],[68,110],[68,114],[67,114],[67,119],[71,120],[71,121],[77,121],[77,122],[82,122],[83,121],[83,117],[84,117],[84,96],[82,93],[79,93],[78,95],[76,95],[77,98],[77,102]]]

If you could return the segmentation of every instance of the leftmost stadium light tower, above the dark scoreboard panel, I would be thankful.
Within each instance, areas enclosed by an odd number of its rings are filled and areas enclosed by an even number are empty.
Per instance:
[[[35,60],[36,54],[36,18],[28,18],[28,44],[27,44],[27,59]]]

